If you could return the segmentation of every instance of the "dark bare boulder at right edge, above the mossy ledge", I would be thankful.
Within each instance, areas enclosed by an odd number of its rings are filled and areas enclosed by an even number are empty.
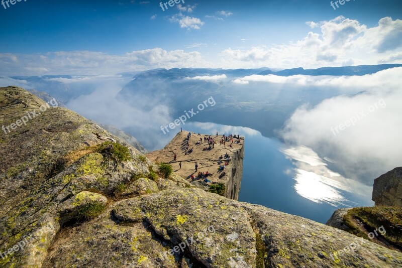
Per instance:
[[[374,180],[372,200],[376,206],[402,207],[402,167]]]

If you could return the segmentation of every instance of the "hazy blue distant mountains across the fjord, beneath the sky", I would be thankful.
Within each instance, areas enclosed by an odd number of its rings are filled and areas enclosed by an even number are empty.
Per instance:
[[[155,105],[168,106],[173,118],[184,110],[196,108],[199,103],[213,96],[217,105],[209,107],[192,118],[193,121],[214,122],[257,129],[265,136],[275,136],[275,129],[283,126],[294,110],[302,104],[316,105],[322,100],[344,94],[339,88],[310,86],[295,87],[287,84],[250,83],[237,85],[235,78],[250,75],[310,75],[310,76],[362,76],[402,64],[360,65],[345,67],[324,67],[319,69],[294,68],[273,71],[263,67],[258,69],[208,69],[172,68],[154,69],[144,72],[119,74],[122,79],[130,80],[116,98],[141,109],[151,110]],[[223,76],[225,75],[225,76]],[[210,76],[205,77],[197,76]],[[214,77],[215,76],[215,77]],[[219,77],[221,76],[221,77]],[[85,77],[85,76],[82,76]],[[12,77],[28,81],[31,88],[45,91],[51,96],[68,104],[68,101],[92,93],[96,86],[90,83],[66,83],[76,78],[70,75]],[[130,79],[132,78],[132,79]],[[214,79],[218,78],[218,79]],[[352,92],[352,94],[356,94]],[[102,123],[102,122],[99,122]],[[159,129],[160,126],[155,126]],[[136,129],[124,129],[132,136],[139,136]]]

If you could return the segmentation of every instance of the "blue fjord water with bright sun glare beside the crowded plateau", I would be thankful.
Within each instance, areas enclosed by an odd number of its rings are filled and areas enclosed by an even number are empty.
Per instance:
[[[321,223],[325,223],[337,208],[373,205],[370,196],[358,195],[347,185],[334,180],[338,174],[329,171],[325,161],[318,159],[308,148],[289,148],[279,140],[263,137],[260,132],[246,127],[188,123],[184,129],[245,137],[239,201]],[[333,177],[323,176],[323,170]]]

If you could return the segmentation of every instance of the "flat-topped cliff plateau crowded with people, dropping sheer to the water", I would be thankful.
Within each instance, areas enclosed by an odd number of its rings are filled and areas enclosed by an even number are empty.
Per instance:
[[[204,149],[209,148],[208,142],[205,142],[204,138],[208,138],[210,135],[191,133],[187,149],[186,139],[188,133],[188,131],[177,133],[165,148],[148,153],[146,156],[156,163],[171,164],[176,174],[198,188],[211,191],[212,186],[212,189],[217,188],[222,196],[237,200],[243,174],[244,138],[234,138],[232,147],[230,147],[232,142],[226,142],[225,145],[220,144],[223,135],[216,136],[215,133],[215,135],[211,135],[211,138],[217,144],[214,144],[211,150],[204,151]],[[226,134],[228,135],[228,133]],[[187,152],[190,149],[193,149],[193,151],[188,154]],[[174,154],[177,156],[176,161],[174,160]],[[220,171],[218,168],[225,164],[225,158],[221,164],[218,164],[218,161],[225,154],[229,155],[230,161],[225,170]],[[180,162],[181,168],[179,166]],[[197,171],[195,171],[195,163],[198,165]],[[205,182],[206,177],[198,176],[198,172],[205,173],[207,171],[211,174],[211,176],[208,176],[210,182]],[[191,175],[195,177],[194,180],[191,179]],[[221,185],[224,185],[224,187]]]

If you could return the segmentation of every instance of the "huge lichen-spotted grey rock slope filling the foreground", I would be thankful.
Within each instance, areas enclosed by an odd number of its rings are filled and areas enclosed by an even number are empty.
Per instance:
[[[370,241],[340,254],[350,233],[164,178],[98,125],[45,106],[0,88],[0,125],[12,125],[0,132],[2,267],[402,265]]]

